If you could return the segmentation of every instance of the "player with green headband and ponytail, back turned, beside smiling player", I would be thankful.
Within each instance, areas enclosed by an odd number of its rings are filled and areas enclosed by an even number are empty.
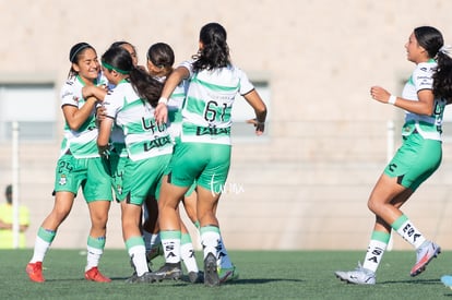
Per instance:
[[[103,99],[106,118],[100,122],[97,146],[103,157],[109,155],[109,137],[114,122],[122,129],[128,159],[124,166],[121,204],[122,236],[135,273],[129,283],[152,283],[159,278],[148,272],[141,232],[142,204],[155,196],[157,185],[173,153],[173,143],[164,123],[157,123],[162,84],[141,68],[122,47],[111,47],[102,56],[105,76],[116,87],[108,93],[87,87],[85,96]]]

